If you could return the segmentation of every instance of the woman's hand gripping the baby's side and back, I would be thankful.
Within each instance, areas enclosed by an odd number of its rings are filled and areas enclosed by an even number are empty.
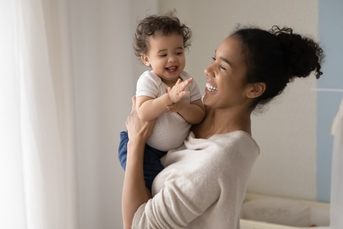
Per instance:
[[[132,97],[132,109],[126,120],[129,141],[145,142],[152,135],[156,119],[153,121],[143,121],[139,118],[136,110],[136,97]]]

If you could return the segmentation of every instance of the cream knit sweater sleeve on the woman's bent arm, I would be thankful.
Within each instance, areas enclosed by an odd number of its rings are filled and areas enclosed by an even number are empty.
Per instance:
[[[213,186],[204,184],[171,173],[165,188],[137,210],[132,228],[185,228],[217,199],[218,194],[208,195]]]

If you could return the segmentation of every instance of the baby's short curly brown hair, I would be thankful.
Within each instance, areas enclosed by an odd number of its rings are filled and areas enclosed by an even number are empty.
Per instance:
[[[137,25],[136,33],[134,34],[134,54],[140,57],[147,53],[148,41],[150,36],[156,32],[161,32],[163,35],[171,33],[180,34],[183,38],[185,49],[191,46],[191,29],[185,24],[180,23],[180,20],[172,13],[165,15],[150,15],[145,17]]]

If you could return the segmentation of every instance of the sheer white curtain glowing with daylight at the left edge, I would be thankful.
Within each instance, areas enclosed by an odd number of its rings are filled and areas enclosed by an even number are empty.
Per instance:
[[[66,2],[0,1],[0,228],[77,227]]]

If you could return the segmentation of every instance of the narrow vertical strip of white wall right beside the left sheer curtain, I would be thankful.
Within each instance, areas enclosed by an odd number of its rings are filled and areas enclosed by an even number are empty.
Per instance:
[[[98,5],[71,1],[71,37],[75,88],[78,226],[99,225],[99,23]],[[85,48],[86,47],[86,48]]]

